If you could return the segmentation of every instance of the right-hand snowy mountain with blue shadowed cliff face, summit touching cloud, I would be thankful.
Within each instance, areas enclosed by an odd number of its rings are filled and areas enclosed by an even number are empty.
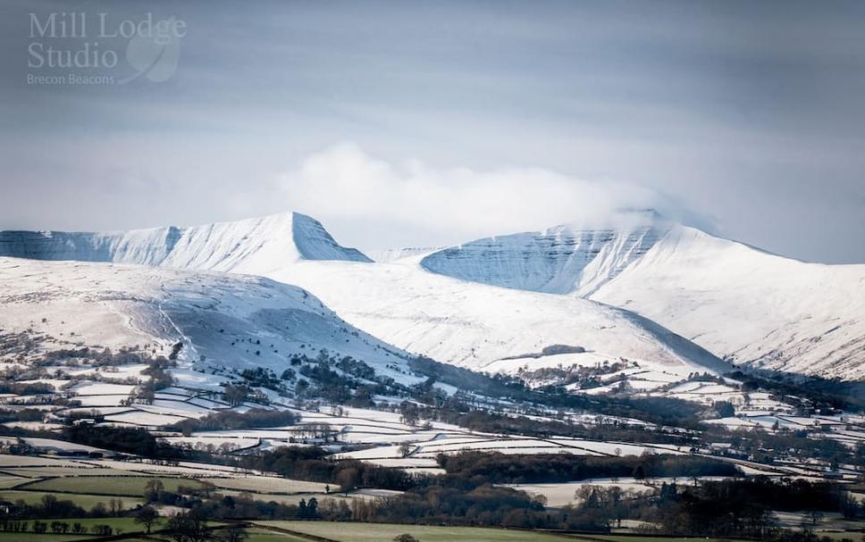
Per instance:
[[[626,309],[735,363],[865,378],[865,265],[802,263],[645,213],[429,254],[429,271]]]

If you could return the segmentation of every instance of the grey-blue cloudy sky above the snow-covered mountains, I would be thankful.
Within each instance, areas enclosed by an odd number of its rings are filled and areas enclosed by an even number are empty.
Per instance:
[[[651,206],[865,263],[863,22],[861,2],[7,0],[0,229],[298,211],[374,249]]]

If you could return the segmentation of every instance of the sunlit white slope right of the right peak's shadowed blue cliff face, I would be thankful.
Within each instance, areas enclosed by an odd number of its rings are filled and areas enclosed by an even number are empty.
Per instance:
[[[678,227],[591,297],[735,362],[865,379],[865,265],[802,263]]]

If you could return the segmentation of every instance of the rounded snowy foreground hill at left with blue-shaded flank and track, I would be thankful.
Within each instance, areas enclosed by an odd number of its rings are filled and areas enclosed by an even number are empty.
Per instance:
[[[0,329],[48,350],[178,341],[181,358],[281,371],[321,348],[398,379],[405,355],[352,328],[308,292],[262,277],[109,263],[0,258]],[[43,319],[45,319],[43,321]],[[233,344],[232,344],[233,343]]]

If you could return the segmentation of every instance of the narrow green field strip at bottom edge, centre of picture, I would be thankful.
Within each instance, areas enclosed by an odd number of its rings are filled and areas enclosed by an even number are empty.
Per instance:
[[[389,523],[340,523],[335,521],[256,521],[298,533],[331,538],[340,542],[391,542],[407,533],[421,542],[562,542],[567,537],[525,530],[483,529],[478,527],[427,527]],[[283,538],[284,539],[284,538]],[[570,538],[573,539],[573,538]],[[277,542],[279,538],[273,538]],[[667,540],[666,542],[669,542]]]

